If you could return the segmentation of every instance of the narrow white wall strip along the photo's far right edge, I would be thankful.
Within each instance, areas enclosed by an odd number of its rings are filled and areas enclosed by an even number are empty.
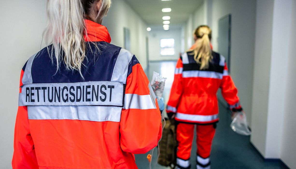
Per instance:
[[[281,142],[281,158],[290,168],[296,168],[295,152],[296,152],[296,33],[294,32],[296,28],[296,1],[292,2],[292,18],[290,26],[290,40],[289,42],[289,54],[288,54],[288,65],[287,65],[287,83],[286,90],[284,91],[285,96],[285,109],[284,109],[284,121],[283,121],[283,131],[282,131],[282,142]]]

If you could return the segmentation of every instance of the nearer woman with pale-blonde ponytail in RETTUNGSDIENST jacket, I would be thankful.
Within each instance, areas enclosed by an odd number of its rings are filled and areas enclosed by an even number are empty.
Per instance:
[[[110,0],[47,0],[48,46],[21,71],[14,169],[133,169],[161,114],[130,51],[110,44]]]

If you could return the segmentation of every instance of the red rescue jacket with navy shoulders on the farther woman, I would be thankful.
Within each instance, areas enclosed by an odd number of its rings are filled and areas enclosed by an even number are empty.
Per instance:
[[[168,113],[176,113],[177,121],[217,122],[218,88],[231,109],[241,110],[237,88],[228,74],[225,58],[214,51],[212,55],[213,61],[206,70],[200,70],[192,52],[184,53],[178,60],[167,106]]]

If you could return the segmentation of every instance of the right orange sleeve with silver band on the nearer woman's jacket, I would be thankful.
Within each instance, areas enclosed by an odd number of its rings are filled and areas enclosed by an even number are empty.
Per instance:
[[[156,147],[161,138],[161,114],[141,65],[130,67],[121,113],[120,146],[125,152],[144,154]]]

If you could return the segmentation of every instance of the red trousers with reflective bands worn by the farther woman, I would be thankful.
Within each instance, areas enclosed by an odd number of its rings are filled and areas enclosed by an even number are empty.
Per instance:
[[[190,168],[190,154],[195,124],[179,123],[177,125],[177,164],[181,169]],[[215,135],[215,126],[196,125],[197,132],[197,168],[210,168],[210,152]]]

